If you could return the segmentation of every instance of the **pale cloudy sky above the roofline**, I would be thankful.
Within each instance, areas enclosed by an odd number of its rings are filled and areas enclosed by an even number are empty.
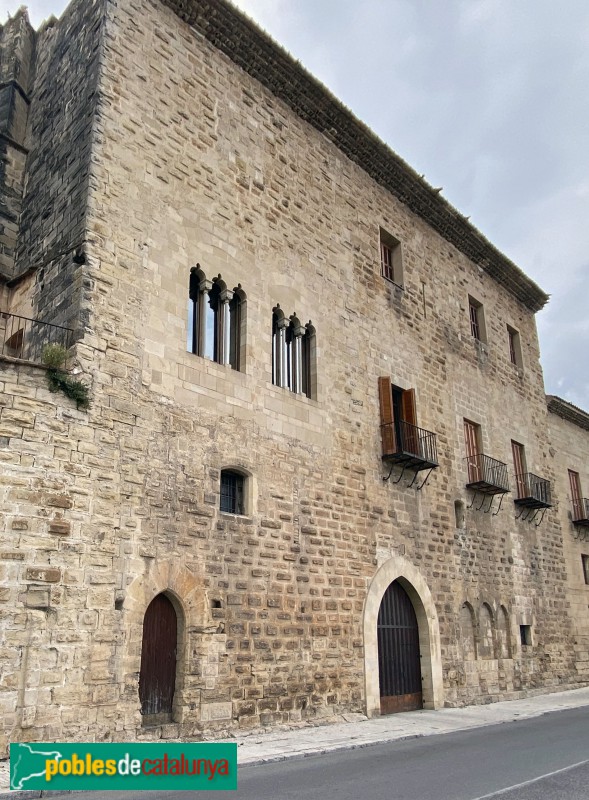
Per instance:
[[[551,295],[546,389],[589,410],[587,0],[236,4]]]

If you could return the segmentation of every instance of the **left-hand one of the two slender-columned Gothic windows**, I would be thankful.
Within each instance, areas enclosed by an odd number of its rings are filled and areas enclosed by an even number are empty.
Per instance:
[[[220,275],[206,279],[200,265],[190,270],[186,349],[218,364],[242,370],[245,293],[230,290]]]

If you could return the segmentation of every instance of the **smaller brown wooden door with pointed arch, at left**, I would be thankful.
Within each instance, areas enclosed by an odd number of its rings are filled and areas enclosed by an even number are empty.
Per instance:
[[[143,620],[139,700],[141,713],[172,714],[176,685],[176,611],[165,594],[151,601]]]

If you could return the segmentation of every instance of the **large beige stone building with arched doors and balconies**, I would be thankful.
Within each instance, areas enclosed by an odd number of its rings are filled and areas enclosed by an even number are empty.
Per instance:
[[[587,682],[547,296],[225,0],[0,48],[0,750]]]

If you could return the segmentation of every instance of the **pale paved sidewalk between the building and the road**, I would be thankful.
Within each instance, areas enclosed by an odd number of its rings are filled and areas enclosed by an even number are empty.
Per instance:
[[[237,737],[239,765],[304,758],[336,750],[367,747],[379,742],[393,742],[416,736],[480,728],[503,722],[529,719],[589,706],[589,687],[554,694],[539,694],[525,700],[511,700],[467,708],[443,708],[439,711],[410,711],[387,717],[366,719],[350,715],[349,721],[329,725],[306,725],[296,730],[271,730]],[[39,792],[10,792],[8,761],[0,761],[0,800],[34,798]]]

